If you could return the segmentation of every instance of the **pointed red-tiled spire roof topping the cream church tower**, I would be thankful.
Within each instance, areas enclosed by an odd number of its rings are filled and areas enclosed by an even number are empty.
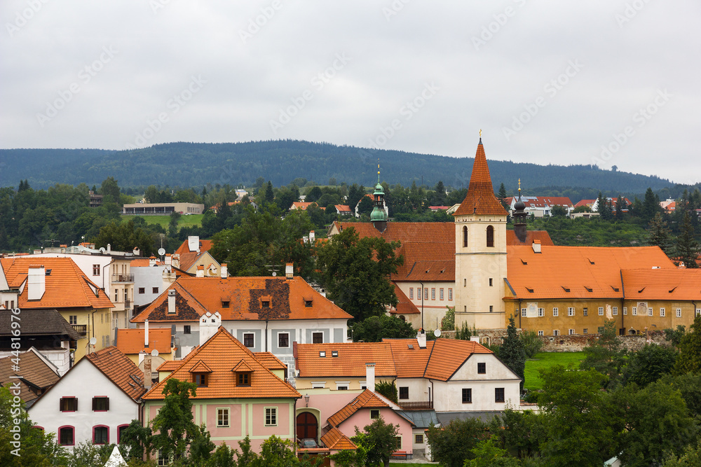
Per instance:
[[[477,145],[475,163],[472,165],[472,174],[470,174],[468,194],[465,196],[465,200],[461,202],[460,207],[453,213],[453,216],[470,214],[486,216],[507,216],[508,214],[501,202],[496,199],[496,195],[494,195],[494,186],[491,184],[482,138],[479,139],[479,144]]]

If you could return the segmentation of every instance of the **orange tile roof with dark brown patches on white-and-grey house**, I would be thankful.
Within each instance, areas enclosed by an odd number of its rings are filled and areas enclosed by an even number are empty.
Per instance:
[[[168,290],[176,291],[176,313],[168,314]],[[261,306],[269,297],[270,308]],[[311,299],[311,307],[305,301]],[[228,307],[224,307],[228,302]],[[269,310],[269,311],[268,311]],[[205,312],[219,312],[222,321],[264,319],[351,319],[301,277],[179,277],[132,322],[194,321]]]

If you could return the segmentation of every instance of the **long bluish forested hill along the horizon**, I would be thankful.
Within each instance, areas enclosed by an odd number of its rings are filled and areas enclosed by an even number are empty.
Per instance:
[[[99,185],[108,176],[127,186],[204,186],[206,183],[252,185],[262,176],[280,186],[301,177],[320,184],[331,178],[339,183],[372,186],[377,158],[382,179],[390,184],[412,181],[434,186],[462,188],[470,181],[473,158],[374,151],[308,141],[252,141],[247,143],[158,144],[134,151],[95,149],[3,149],[0,150],[0,186],[17,186],[29,180],[34,188],[55,183]],[[585,187],[620,193],[660,190],[672,183],[656,176],[612,172],[589,165],[535,165],[490,160],[496,188],[509,191],[520,178],[526,186]]]

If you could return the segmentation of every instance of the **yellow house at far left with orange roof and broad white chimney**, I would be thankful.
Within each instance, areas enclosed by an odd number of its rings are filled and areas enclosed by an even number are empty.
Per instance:
[[[39,309],[56,309],[84,337],[74,351],[77,362],[90,351],[109,347],[112,341],[111,309],[114,307],[102,291],[71,258],[35,258],[22,256],[0,260],[0,285],[10,305],[16,300],[22,314]],[[4,274],[2,274],[4,272]],[[90,338],[95,345],[88,348]]]

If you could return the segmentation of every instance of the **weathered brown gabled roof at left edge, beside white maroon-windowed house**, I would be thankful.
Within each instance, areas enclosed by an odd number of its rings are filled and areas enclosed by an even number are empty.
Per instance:
[[[20,383],[20,398],[32,405],[39,398],[36,392],[43,392],[50,388],[59,379],[56,367],[41,358],[38,351],[32,347],[20,354],[20,370],[13,370],[13,356],[0,358],[0,386],[9,387],[15,382]],[[15,376],[21,376],[20,379]],[[35,392],[36,391],[36,392]]]

